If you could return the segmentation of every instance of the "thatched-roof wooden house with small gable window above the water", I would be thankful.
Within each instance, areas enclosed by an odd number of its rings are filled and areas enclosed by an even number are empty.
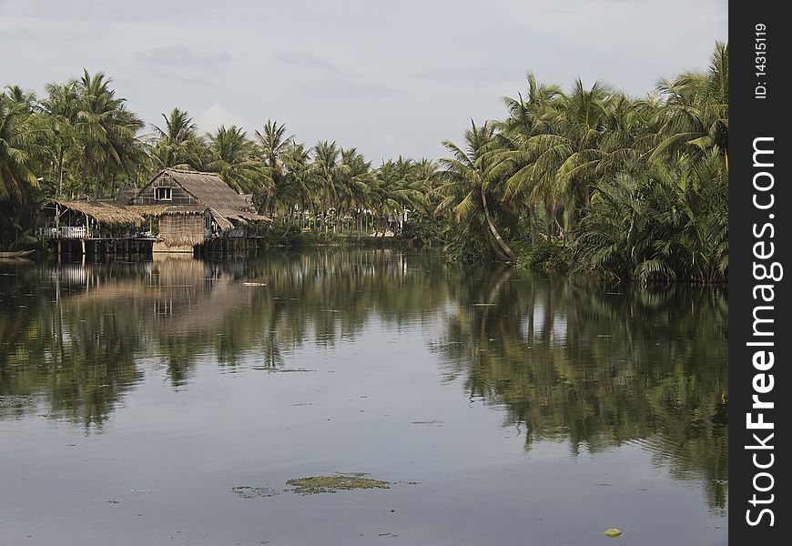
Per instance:
[[[188,250],[213,237],[244,237],[250,222],[266,222],[249,201],[213,173],[164,168],[142,187],[127,208],[157,217],[154,250]]]

